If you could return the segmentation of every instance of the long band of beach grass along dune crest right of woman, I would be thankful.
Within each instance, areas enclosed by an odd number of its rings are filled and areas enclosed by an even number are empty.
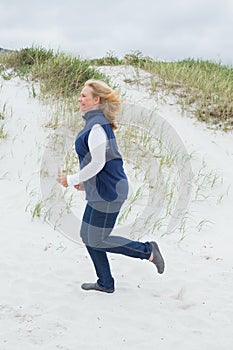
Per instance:
[[[208,60],[188,58],[156,61],[133,51],[119,59],[114,53],[94,59],[93,65],[132,65],[152,74],[151,92],[162,89],[177,97],[183,110],[223,131],[233,129],[233,68]]]

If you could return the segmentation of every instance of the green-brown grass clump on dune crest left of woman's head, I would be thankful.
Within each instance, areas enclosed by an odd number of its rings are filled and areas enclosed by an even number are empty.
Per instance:
[[[42,95],[56,98],[77,96],[88,79],[108,80],[87,60],[41,47],[23,48],[1,55],[0,73],[3,72],[3,77],[9,69],[8,74],[39,82]]]

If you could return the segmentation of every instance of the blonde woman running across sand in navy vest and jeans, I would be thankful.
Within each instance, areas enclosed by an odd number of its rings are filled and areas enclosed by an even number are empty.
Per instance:
[[[74,186],[86,192],[87,205],[80,235],[98,279],[95,283],[83,283],[81,287],[113,293],[114,279],[107,252],[147,259],[155,264],[158,273],[164,272],[164,260],[156,242],[142,243],[110,236],[128,194],[128,181],[114,135],[116,114],[120,109],[118,94],[102,81],[88,80],[78,103],[85,120],[75,141],[80,172],[59,174],[57,181],[64,187]]]

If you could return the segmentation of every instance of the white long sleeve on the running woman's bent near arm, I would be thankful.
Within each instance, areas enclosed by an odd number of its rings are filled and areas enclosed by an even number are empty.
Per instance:
[[[88,136],[91,161],[77,174],[67,175],[68,186],[78,185],[98,174],[106,163],[107,135],[100,124],[95,124]]]

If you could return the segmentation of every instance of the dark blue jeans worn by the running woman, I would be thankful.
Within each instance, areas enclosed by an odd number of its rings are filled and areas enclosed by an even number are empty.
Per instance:
[[[93,261],[98,277],[97,283],[105,288],[114,288],[107,252],[133,258],[149,259],[151,244],[132,241],[110,235],[120,212],[122,202],[88,202],[83,215],[81,238]]]

